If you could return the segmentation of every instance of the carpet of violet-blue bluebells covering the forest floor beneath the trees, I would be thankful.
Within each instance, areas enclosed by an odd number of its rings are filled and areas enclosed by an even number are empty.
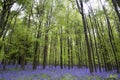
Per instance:
[[[13,65],[6,68],[3,71],[0,65],[0,80],[120,80],[120,74],[116,74],[116,71],[89,73],[87,68],[60,69],[59,66],[47,66],[44,70],[39,66],[32,70],[31,65],[27,65],[25,70]]]

